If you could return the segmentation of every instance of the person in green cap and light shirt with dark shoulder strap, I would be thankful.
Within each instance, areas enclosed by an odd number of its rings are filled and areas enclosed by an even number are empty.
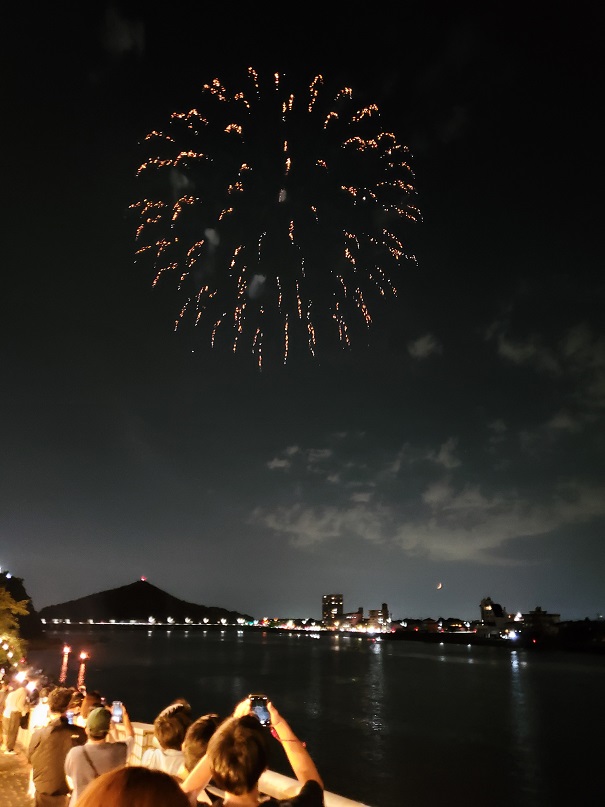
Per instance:
[[[87,741],[72,748],[65,758],[65,775],[72,789],[69,807],[74,807],[86,786],[102,773],[121,768],[128,762],[134,745],[134,730],[122,704],[126,741],[108,742],[111,711],[105,706],[91,709],[86,718]]]

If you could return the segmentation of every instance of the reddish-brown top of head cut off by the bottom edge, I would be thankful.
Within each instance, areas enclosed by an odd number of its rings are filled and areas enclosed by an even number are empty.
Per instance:
[[[164,771],[129,765],[97,776],[78,807],[189,807],[178,781]]]

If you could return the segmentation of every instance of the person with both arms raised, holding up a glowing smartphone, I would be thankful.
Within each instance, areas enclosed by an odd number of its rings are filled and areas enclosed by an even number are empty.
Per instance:
[[[233,716],[223,721],[212,735],[206,755],[183,782],[186,793],[206,787],[212,779],[213,784],[225,793],[222,799],[213,803],[213,807],[227,807],[233,802],[258,803],[261,798],[259,779],[267,769],[271,734],[282,744],[300,783],[296,795],[276,803],[283,807],[322,807],[323,782],[305,744],[296,737],[271,701],[267,700],[266,707],[271,729],[261,724],[249,697],[238,703]]]

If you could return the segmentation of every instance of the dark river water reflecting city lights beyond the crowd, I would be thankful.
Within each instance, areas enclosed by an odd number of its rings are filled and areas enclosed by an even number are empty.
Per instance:
[[[602,792],[605,656],[272,631],[47,631],[30,661],[153,722],[264,692],[327,790],[371,807],[558,807]],[[56,644],[54,639],[56,638]],[[292,775],[273,743],[271,768]],[[597,787],[598,784],[598,787]]]

